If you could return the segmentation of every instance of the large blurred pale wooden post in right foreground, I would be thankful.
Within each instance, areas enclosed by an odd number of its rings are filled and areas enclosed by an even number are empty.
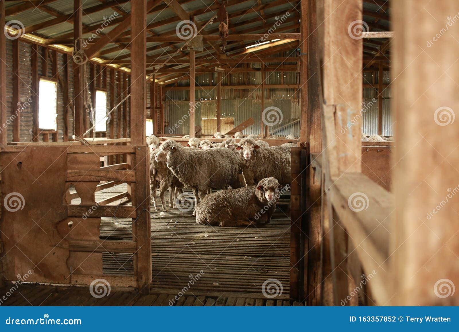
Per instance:
[[[394,202],[389,305],[459,305],[459,45],[445,17],[457,2],[394,1]],[[430,37],[430,38],[432,38]],[[446,37],[446,38],[445,38]],[[428,38],[428,39],[430,39]],[[433,44],[431,44],[433,43]],[[422,50],[420,49],[422,47]],[[408,92],[409,91],[409,92]],[[454,293],[455,288],[455,293]]]

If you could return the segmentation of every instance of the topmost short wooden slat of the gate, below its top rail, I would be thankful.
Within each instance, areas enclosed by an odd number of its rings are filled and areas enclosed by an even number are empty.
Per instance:
[[[130,170],[67,170],[67,181],[123,181],[135,182],[135,172]]]

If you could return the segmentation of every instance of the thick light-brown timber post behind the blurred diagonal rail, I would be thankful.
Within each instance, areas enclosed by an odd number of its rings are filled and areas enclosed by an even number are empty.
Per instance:
[[[325,21],[323,44],[323,91],[325,109],[325,190],[345,172],[361,171],[362,39],[348,33],[353,22],[362,20],[362,0],[349,0],[342,11],[338,0],[323,0]],[[351,29],[352,30],[352,29]],[[349,31],[351,31],[349,30]],[[354,37],[354,38],[353,38]],[[336,52],[336,50],[340,50]],[[352,121],[352,122],[351,122]],[[340,305],[348,293],[347,233],[338,215],[327,205],[330,219],[330,262],[334,304]],[[331,210],[331,211],[330,211]],[[351,282],[352,283],[352,282]]]

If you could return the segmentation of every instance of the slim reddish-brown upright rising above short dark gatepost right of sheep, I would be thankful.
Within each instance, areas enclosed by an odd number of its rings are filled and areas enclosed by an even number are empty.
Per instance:
[[[301,120],[300,143],[309,139],[308,131],[308,1],[301,1]]]

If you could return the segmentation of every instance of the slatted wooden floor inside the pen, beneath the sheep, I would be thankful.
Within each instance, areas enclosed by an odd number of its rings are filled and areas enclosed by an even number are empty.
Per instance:
[[[96,201],[125,191],[125,186],[96,192]],[[263,282],[277,279],[279,298],[288,299],[290,216],[284,210],[289,199],[282,197],[271,222],[260,227],[202,226],[192,211],[151,208],[152,292],[178,293],[193,280],[195,294],[265,298]],[[132,221],[102,218],[101,239],[132,239]],[[104,273],[132,275],[133,266],[132,254],[103,253]]]

